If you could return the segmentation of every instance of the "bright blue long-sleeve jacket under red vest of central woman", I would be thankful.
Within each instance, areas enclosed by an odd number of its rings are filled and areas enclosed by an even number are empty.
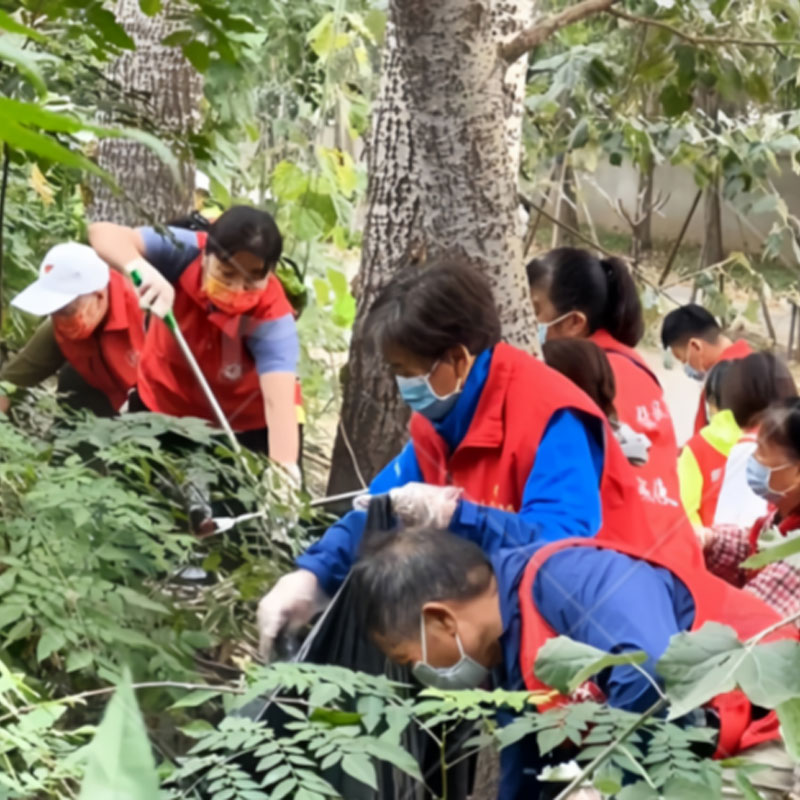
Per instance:
[[[451,452],[472,422],[491,357],[492,352],[487,350],[475,359],[453,410],[434,424]],[[545,427],[519,512],[461,500],[450,530],[475,542],[486,553],[533,541],[594,536],[601,524],[602,440],[598,420],[568,409],[557,411]],[[378,473],[370,484],[370,493],[384,494],[422,480],[414,447],[408,443]],[[297,566],[313,572],[328,594],[336,591],[355,560],[365,521],[363,512],[351,511],[297,559]]]

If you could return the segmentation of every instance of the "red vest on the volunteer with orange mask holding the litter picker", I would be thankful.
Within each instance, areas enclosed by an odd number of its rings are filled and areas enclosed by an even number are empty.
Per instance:
[[[209,386],[235,431],[266,426],[256,365],[245,342],[262,322],[292,313],[280,281],[270,274],[255,308],[231,316],[211,306],[202,288],[202,251],[207,234],[197,234],[201,253],[175,286],[173,312]],[[175,337],[152,318],[139,365],[138,390],[152,411],[174,417],[217,420]]]

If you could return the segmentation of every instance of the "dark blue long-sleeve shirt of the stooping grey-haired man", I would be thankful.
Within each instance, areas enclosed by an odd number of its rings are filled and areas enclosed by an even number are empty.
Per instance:
[[[497,577],[503,634],[503,664],[493,672],[495,685],[524,688],[520,667],[522,620],[519,584],[528,561],[541,545],[497,552],[491,559]],[[536,576],[533,602],[558,635],[610,652],[644,650],[642,668],[656,681],[655,664],[670,637],[688,630],[694,601],[669,570],[613,550],[569,548],[552,555]],[[650,681],[631,666],[613,667],[594,678],[615,708],[642,712],[657,699]],[[534,737],[501,754],[503,800],[538,796],[536,775],[546,763]]]

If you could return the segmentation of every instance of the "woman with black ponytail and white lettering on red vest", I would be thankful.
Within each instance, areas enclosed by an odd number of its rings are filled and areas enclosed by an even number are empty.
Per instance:
[[[672,418],[658,379],[633,349],[644,319],[628,268],[617,258],[561,247],[531,261],[527,271],[540,340],[588,338],[605,351],[619,419],[651,443],[647,463],[635,469],[642,499],[654,507],[651,521],[665,536],[686,536]]]

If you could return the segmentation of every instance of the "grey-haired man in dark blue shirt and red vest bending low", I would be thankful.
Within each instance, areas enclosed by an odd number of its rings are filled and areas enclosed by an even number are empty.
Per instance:
[[[489,680],[511,691],[549,688],[536,676],[536,656],[559,635],[606,652],[643,650],[641,670],[604,670],[572,698],[641,713],[659,699],[655,665],[672,636],[713,620],[746,639],[781,619],[702,567],[667,569],[642,555],[635,545],[567,539],[487,558],[446,531],[381,532],[364,540],[353,592],[361,600],[359,622],[378,647],[410,665],[421,683],[443,690]],[[784,626],[766,640],[796,638],[796,629]],[[779,738],[775,712],[755,709],[740,691],[718,695],[692,716],[718,727],[715,751],[709,748],[718,758]],[[561,755],[559,761],[570,758]],[[543,765],[535,737],[504,748],[498,796],[540,797]]]

